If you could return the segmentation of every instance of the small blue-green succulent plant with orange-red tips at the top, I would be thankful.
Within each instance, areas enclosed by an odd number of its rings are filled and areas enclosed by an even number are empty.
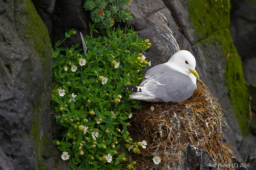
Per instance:
[[[127,5],[131,0],[84,0],[85,10],[90,11],[90,17],[98,28],[110,28],[117,22],[130,22],[131,11]]]

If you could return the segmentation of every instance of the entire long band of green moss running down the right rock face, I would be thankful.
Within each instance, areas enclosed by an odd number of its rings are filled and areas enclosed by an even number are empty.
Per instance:
[[[247,135],[248,93],[244,84],[242,61],[229,31],[230,0],[189,0],[190,20],[195,27],[199,40],[208,42],[215,49],[221,46],[226,63],[225,86],[229,89],[228,99],[236,110],[241,133]],[[212,44],[215,43],[215,44]],[[216,44],[217,43],[217,44]],[[227,56],[229,56],[227,58]],[[225,61],[225,58],[227,60]]]

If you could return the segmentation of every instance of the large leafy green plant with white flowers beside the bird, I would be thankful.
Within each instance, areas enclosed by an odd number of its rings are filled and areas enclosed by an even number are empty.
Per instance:
[[[140,84],[142,68],[150,65],[143,53],[151,43],[127,28],[102,30],[84,41],[84,50],[79,44],[58,48],[61,41],[52,50],[52,109],[62,126],[53,142],[74,170],[133,169],[135,162],[125,164],[127,149],[140,153],[146,142],[129,136],[131,108],[141,105],[122,85]]]

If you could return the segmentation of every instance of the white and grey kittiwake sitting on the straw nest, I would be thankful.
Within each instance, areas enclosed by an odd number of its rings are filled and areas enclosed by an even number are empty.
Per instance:
[[[167,63],[152,67],[139,86],[123,86],[131,99],[153,102],[181,102],[190,98],[199,78],[195,57],[186,50],[176,52]]]

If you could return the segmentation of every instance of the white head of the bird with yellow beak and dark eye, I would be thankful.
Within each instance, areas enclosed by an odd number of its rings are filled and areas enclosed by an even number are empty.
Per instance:
[[[192,73],[196,78],[199,77],[198,73],[195,71],[195,57],[189,51],[180,50],[179,52],[176,52],[169,59],[168,63],[178,66],[188,75]]]

